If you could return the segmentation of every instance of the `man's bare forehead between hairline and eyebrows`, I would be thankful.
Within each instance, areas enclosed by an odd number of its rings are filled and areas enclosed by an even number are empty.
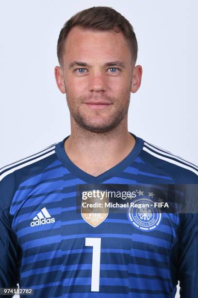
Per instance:
[[[130,47],[122,32],[93,31],[76,26],[66,37],[64,61],[119,59],[127,62],[130,58]]]

